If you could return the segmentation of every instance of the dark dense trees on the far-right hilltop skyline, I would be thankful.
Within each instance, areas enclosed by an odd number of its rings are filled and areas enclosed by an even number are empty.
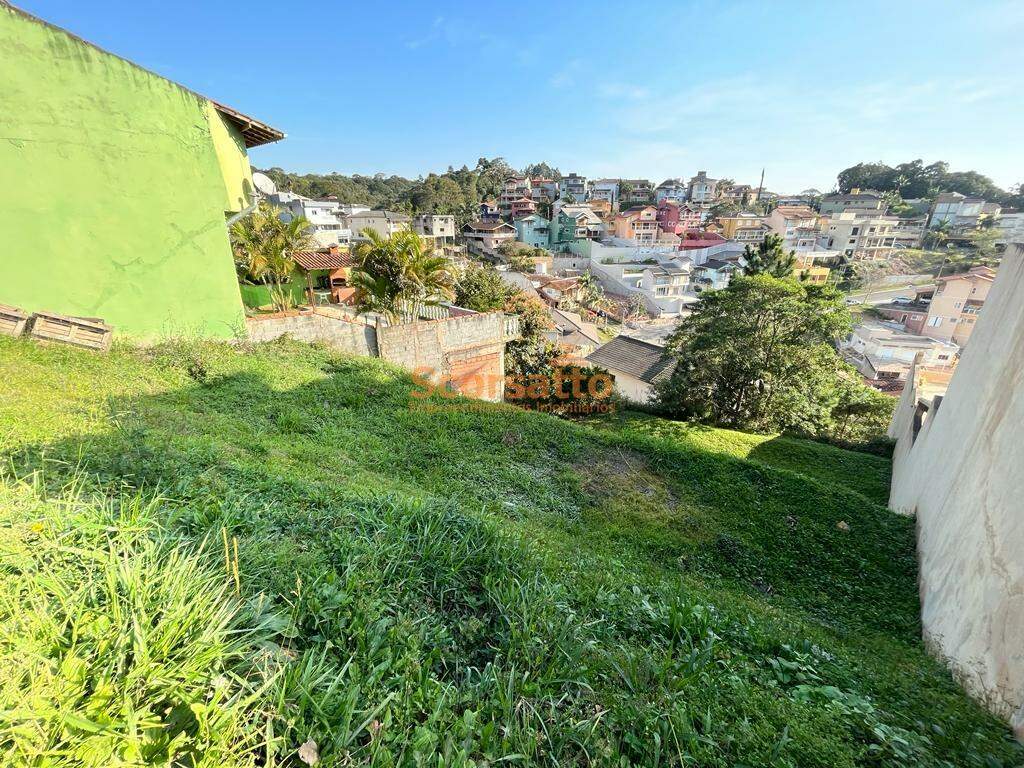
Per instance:
[[[841,193],[854,188],[898,193],[904,200],[933,198],[939,193],[984,198],[1005,206],[1024,208],[1024,188],[1015,185],[1010,191],[977,171],[950,171],[949,164],[925,165],[921,160],[893,167],[885,163],[858,163],[840,171],[837,186]]]

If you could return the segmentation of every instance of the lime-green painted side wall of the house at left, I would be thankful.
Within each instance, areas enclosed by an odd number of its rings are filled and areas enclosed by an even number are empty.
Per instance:
[[[150,339],[242,329],[233,131],[206,99],[0,4],[0,303]]]

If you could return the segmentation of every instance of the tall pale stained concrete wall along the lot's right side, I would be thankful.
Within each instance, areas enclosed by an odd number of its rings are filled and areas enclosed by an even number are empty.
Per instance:
[[[926,642],[1024,736],[1024,251],[1004,258],[971,344],[916,440],[907,387],[892,509],[918,517]]]

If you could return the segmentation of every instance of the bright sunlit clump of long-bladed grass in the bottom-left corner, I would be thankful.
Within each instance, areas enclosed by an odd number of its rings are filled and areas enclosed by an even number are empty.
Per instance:
[[[0,754],[7,765],[251,765],[269,616],[140,496],[0,490]]]

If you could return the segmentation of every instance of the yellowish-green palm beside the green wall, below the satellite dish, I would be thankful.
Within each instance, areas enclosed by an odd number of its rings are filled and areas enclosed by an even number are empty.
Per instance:
[[[301,216],[284,221],[276,208],[261,202],[231,225],[230,238],[240,278],[269,285],[274,308],[291,309],[292,295],[285,285],[295,273],[292,254],[313,245],[309,222]]]

